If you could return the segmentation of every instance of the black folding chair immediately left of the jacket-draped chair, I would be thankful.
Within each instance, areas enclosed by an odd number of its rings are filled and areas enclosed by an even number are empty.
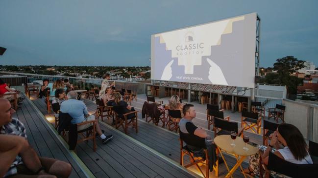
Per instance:
[[[132,125],[133,128],[136,129],[136,133],[138,133],[138,111],[131,111],[129,113],[123,113],[121,106],[113,106],[115,112],[115,127],[118,129],[122,126],[125,134],[128,133],[128,125]],[[128,122],[129,119],[129,122]]]

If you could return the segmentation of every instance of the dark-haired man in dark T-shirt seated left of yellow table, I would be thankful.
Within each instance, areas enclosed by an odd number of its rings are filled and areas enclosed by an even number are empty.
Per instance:
[[[216,146],[213,144],[211,136],[209,136],[204,129],[198,128],[193,124],[192,119],[196,118],[194,105],[185,104],[182,112],[184,118],[179,122],[180,138],[186,142],[187,147],[193,152],[199,153],[203,151],[202,148],[208,149],[209,162],[211,163],[209,167],[210,171],[212,171],[212,164],[215,164],[217,156],[215,154]],[[204,154],[199,153],[199,155],[204,157]]]

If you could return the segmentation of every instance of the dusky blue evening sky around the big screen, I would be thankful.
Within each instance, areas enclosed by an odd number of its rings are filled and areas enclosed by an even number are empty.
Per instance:
[[[318,67],[318,0],[0,0],[0,64],[150,66],[152,34],[252,12],[261,67]]]

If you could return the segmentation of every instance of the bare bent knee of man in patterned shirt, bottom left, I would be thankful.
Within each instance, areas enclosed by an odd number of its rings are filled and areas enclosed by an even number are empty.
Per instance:
[[[44,157],[40,157],[40,161],[47,173],[58,178],[68,178],[71,174],[72,166],[67,162]]]

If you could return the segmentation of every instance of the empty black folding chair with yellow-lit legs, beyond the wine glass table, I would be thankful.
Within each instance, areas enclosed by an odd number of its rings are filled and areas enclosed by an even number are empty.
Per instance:
[[[244,127],[244,130],[251,129],[253,133],[261,134],[261,126],[262,116],[259,117],[258,113],[242,111],[241,127]]]

